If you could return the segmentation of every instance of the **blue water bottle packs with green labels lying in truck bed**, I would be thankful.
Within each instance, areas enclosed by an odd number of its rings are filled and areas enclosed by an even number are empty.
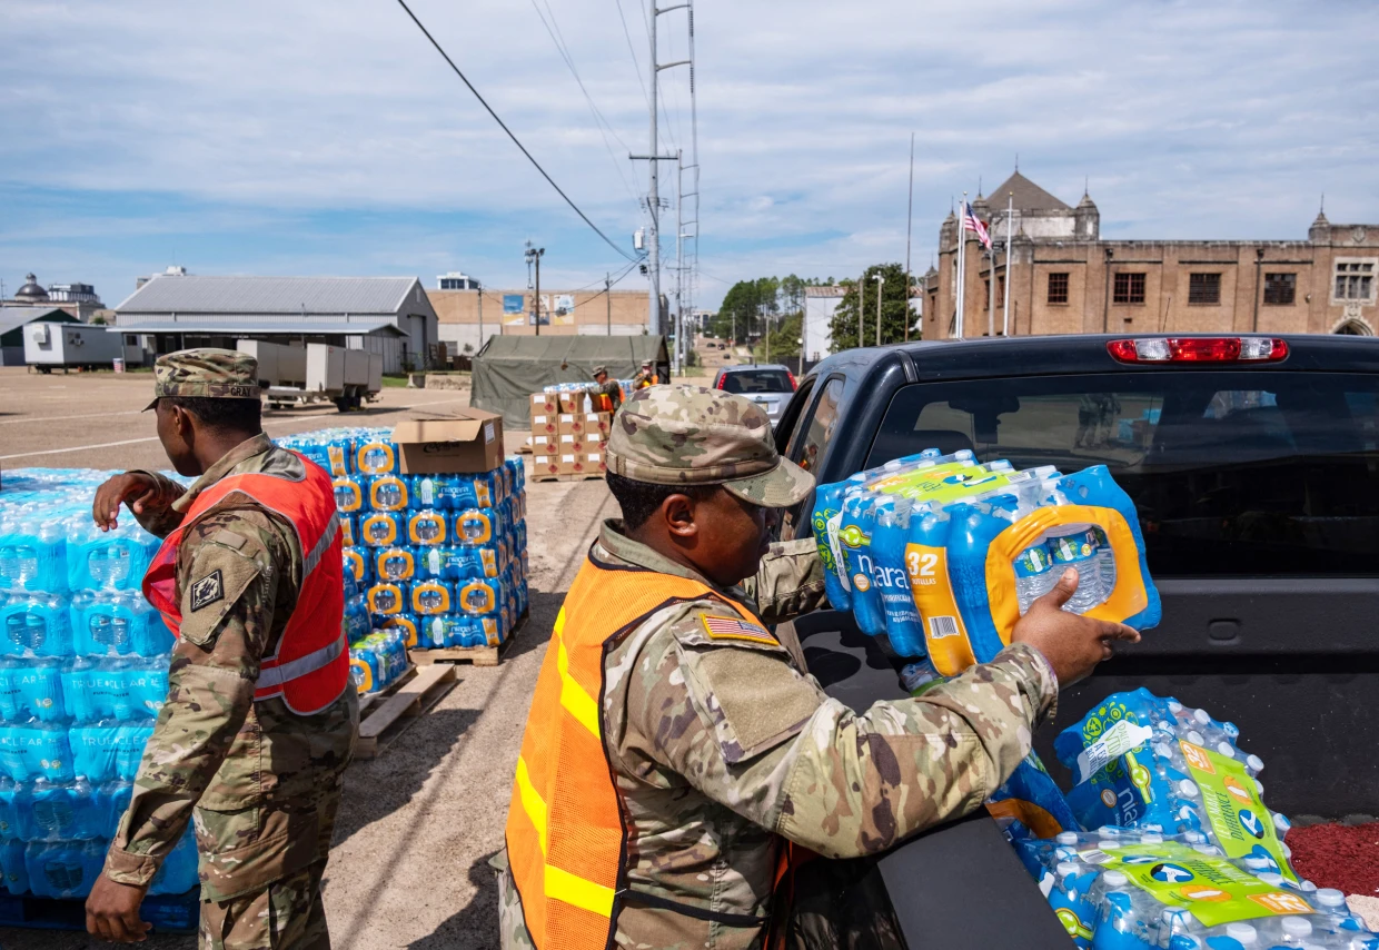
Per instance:
[[[1240,731],[1145,689],[1107,696],[1055,742],[1085,829],[1015,838],[1069,936],[1102,950],[1376,950],[1340,891],[1300,880],[1288,819]]]

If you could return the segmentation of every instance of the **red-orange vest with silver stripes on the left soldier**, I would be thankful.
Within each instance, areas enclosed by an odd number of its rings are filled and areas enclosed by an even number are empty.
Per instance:
[[[295,455],[295,452],[294,452]],[[182,608],[177,589],[177,556],[182,534],[207,512],[239,492],[277,514],[296,532],[302,547],[302,589],[296,609],[272,656],[259,665],[255,702],[281,696],[294,713],[310,716],[339,699],[349,683],[349,644],[345,641],[345,580],[341,521],[335,513],[331,477],[298,455],[306,467],[302,481],[281,476],[239,474],[222,478],[192,503],[182,524],[159,547],[143,575],[143,596],[163,614],[168,629],[181,636]]]

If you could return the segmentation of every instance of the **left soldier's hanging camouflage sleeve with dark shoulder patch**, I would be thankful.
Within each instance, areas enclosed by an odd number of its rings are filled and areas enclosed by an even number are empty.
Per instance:
[[[266,516],[197,521],[182,539],[182,630],[105,873],[143,887],[186,830],[254,705],[285,545]],[[258,764],[254,764],[256,768]]]

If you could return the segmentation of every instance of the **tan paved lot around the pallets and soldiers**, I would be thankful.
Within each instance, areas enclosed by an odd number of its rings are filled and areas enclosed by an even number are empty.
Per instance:
[[[149,398],[150,376],[26,376],[0,370],[0,465],[165,467]],[[368,414],[274,412],[270,434],[349,422],[392,425],[407,407],[465,405],[467,392],[383,392]],[[507,433],[516,448],[527,433]],[[70,449],[70,451],[68,451]],[[536,670],[550,627],[598,521],[618,506],[601,481],[530,483],[531,619],[496,667],[461,666],[459,685],[385,753],[357,762],[325,882],[334,944],[467,950],[496,946],[496,888],[487,858],[502,847],[507,794]],[[4,950],[109,946],[81,933],[0,928]],[[192,950],[161,936],[150,950]]]

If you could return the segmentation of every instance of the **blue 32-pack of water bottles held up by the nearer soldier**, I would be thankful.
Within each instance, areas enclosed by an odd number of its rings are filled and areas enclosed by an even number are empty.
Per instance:
[[[830,603],[889,643],[914,695],[994,659],[1069,567],[1067,609],[1158,622],[1135,506],[1105,466],[1065,476],[925,449],[821,485],[812,523]],[[1078,827],[1033,753],[987,808],[1020,837]]]

